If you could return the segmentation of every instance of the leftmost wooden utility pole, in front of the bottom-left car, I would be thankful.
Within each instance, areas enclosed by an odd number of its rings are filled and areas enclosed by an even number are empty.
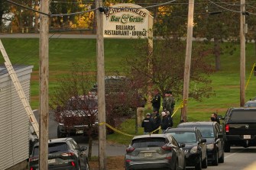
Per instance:
[[[49,14],[49,0],[41,1],[41,12]],[[49,16],[41,15],[40,22],[40,138],[39,138],[39,169],[48,169],[48,78],[49,78]]]

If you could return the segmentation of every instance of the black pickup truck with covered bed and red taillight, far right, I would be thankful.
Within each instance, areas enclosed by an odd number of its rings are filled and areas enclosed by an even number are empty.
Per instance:
[[[230,152],[230,146],[256,146],[256,108],[228,108],[223,127],[225,152]]]

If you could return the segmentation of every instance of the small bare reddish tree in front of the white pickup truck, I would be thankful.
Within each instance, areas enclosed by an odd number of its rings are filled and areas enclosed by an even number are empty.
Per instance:
[[[96,82],[96,75],[88,74],[89,65],[73,63],[70,74],[60,78],[58,85],[51,95],[50,107],[55,117],[68,117],[67,125],[74,125],[82,120],[84,129],[89,136],[89,158],[92,155],[92,135],[95,131],[98,112],[97,104],[91,102],[89,90]],[[95,96],[93,96],[95,97]],[[90,99],[91,98],[91,99]],[[96,127],[97,129],[97,127]]]

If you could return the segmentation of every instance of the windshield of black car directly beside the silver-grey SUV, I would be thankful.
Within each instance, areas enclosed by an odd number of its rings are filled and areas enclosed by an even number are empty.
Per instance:
[[[167,132],[173,136],[178,143],[196,143],[196,134],[193,132]]]

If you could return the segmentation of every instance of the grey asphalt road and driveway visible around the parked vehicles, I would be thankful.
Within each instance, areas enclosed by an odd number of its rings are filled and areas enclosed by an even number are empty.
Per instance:
[[[34,111],[35,117],[39,123],[38,111]],[[52,114],[49,117],[49,138],[57,138],[57,125]],[[79,146],[88,146],[88,139],[85,136],[72,136]],[[106,147],[107,156],[124,156],[126,146],[109,145]],[[92,156],[99,155],[98,141],[93,141]],[[256,170],[256,147],[243,148],[231,147],[231,152],[225,152],[225,162],[218,166],[210,165],[209,170]],[[188,168],[193,169],[193,168]]]

